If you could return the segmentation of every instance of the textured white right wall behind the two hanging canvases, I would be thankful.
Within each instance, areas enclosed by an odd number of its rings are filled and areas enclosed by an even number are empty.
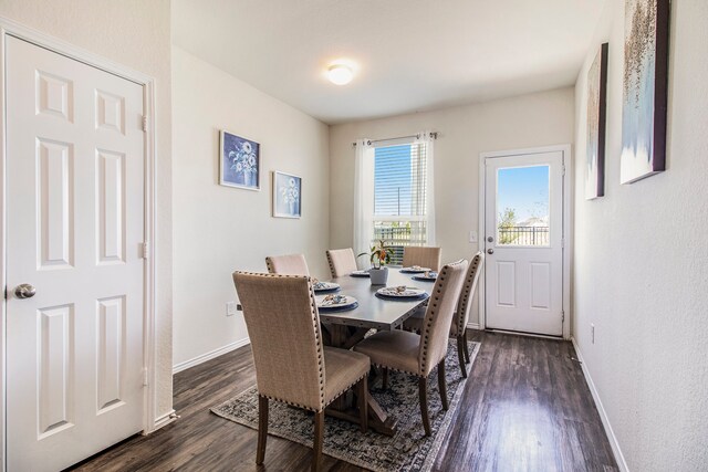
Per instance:
[[[608,1],[605,197],[584,199],[587,54],[576,84],[573,331],[633,471],[708,463],[708,2],[671,8],[667,170],[620,185],[624,2]],[[595,343],[590,324],[595,325]]]

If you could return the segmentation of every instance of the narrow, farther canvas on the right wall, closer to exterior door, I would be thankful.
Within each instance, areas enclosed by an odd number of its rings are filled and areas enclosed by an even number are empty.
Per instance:
[[[607,50],[600,46],[587,71],[587,136],[585,155],[585,198],[605,195],[605,116],[607,109]]]

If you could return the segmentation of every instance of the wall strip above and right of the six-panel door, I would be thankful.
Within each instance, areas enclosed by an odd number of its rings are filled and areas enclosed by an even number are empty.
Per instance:
[[[169,0],[2,0],[0,15],[155,78],[157,129],[156,417],[171,411]]]

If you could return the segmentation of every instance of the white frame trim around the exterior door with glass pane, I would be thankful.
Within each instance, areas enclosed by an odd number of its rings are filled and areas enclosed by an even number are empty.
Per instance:
[[[571,201],[571,186],[573,175],[573,159],[571,156],[571,145],[553,145],[543,147],[532,147],[527,149],[511,149],[480,153],[479,155],[479,250],[485,251],[485,238],[486,231],[486,218],[485,218],[485,203],[486,203],[486,176],[485,162],[488,158],[506,157],[506,156],[520,156],[529,154],[542,154],[561,151],[563,154],[563,339],[571,338],[571,268],[572,268],[572,201]],[[487,270],[485,264],[483,270]],[[487,326],[486,312],[485,312],[485,277],[479,277],[479,327],[485,329]]]

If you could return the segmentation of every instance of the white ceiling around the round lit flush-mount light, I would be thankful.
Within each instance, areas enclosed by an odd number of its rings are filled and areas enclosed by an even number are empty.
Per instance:
[[[173,43],[327,124],[575,83],[605,0],[173,0]],[[327,82],[340,57],[351,84]]]

